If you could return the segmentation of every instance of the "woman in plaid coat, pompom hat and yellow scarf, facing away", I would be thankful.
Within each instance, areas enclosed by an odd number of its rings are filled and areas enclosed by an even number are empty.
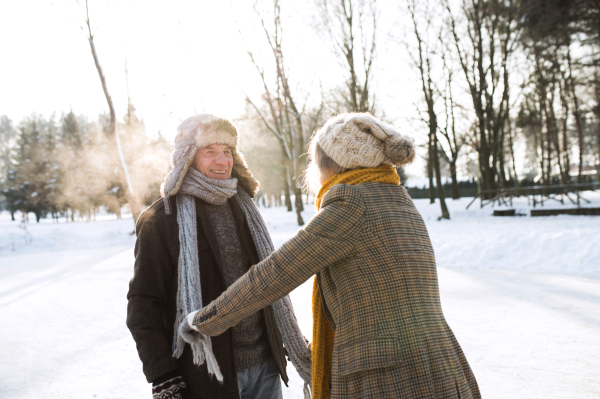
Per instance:
[[[180,331],[219,335],[316,274],[315,398],[480,398],[442,313],[425,224],[393,168],[414,159],[412,139],[342,114],[310,154],[319,212]]]

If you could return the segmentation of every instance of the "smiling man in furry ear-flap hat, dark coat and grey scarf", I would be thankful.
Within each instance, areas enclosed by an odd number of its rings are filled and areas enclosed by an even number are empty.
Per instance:
[[[310,352],[289,298],[218,337],[178,333],[187,314],[217,298],[273,246],[252,201],[259,183],[238,151],[236,128],[212,115],[178,127],[172,170],[136,224],[127,326],[153,397],[281,398],[284,344],[310,381]]]

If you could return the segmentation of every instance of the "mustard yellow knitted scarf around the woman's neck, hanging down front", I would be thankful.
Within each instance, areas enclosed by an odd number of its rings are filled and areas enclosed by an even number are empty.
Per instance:
[[[360,183],[400,184],[400,177],[391,166],[381,165],[374,169],[353,169],[338,173],[329,178],[317,194],[315,205],[321,208],[325,193],[336,184],[356,185]],[[319,285],[315,278],[313,285],[313,342],[312,342],[312,393],[313,399],[328,399],[331,397],[331,362],[333,357],[333,339],[335,333],[327,322]]]

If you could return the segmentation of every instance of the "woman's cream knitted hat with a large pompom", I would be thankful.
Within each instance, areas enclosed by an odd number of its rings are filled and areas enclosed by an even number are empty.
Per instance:
[[[368,113],[340,114],[320,128],[311,145],[346,169],[403,166],[415,159],[414,139]],[[314,149],[311,151],[314,154]]]

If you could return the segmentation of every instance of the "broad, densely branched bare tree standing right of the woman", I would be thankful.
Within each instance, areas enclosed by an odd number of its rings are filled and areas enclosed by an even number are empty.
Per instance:
[[[503,163],[502,129],[510,107],[509,61],[519,31],[515,0],[464,0],[461,14],[465,21],[466,44],[461,40],[457,20],[449,0],[443,0],[454,47],[477,117],[476,150],[486,196],[493,196]]]

